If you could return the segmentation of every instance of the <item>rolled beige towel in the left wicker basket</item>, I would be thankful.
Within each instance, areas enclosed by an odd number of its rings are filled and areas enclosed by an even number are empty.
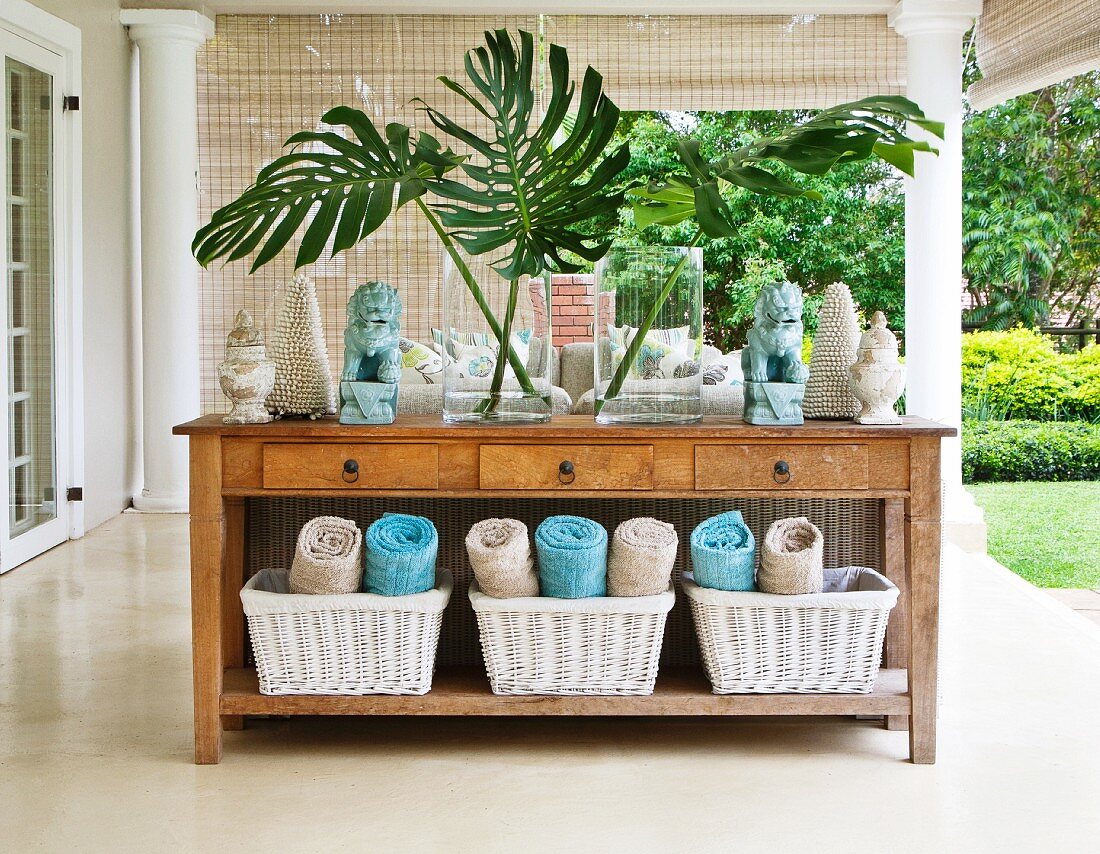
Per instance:
[[[363,583],[363,534],[351,519],[318,516],[298,534],[292,593],[358,593]]]

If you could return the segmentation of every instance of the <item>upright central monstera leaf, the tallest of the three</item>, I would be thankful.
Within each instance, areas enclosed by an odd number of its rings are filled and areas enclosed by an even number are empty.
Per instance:
[[[470,184],[442,179],[432,190],[447,199],[435,205],[451,236],[472,255],[501,253],[494,269],[509,281],[551,269],[574,272],[604,256],[609,241],[581,230],[588,218],[614,211],[622,193],[608,185],[630,160],[626,145],[600,161],[618,122],[618,108],[603,94],[603,78],[584,74],[580,99],[569,77],[565,48],[551,44],[550,92],[537,127],[535,39],[520,31],[517,45],[506,30],[485,33],[485,46],[465,57],[470,87],[449,77],[440,81],[488,120],[491,133],[476,131],[425,106],[432,123],[469,145],[483,163],[464,163]]]

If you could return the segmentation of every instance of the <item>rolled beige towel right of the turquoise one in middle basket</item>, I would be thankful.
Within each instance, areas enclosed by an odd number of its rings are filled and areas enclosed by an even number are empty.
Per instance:
[[[668,590],[678,541],[676,529],[660,519],[627,519],[615,528],[607,555],[607,595],[653,596]]]

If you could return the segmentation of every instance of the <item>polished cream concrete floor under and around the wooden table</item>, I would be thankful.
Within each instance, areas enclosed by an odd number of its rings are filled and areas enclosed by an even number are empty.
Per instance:
[[[0,579],[0,851],[1100,847],[1100,627],[992,561],[948,555],[935,766],[838,719],[302,719],[196,767],[186,525]]]

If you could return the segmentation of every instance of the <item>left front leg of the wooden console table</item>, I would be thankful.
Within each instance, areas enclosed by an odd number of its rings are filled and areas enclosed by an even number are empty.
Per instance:
[[[221,441],[193,436],[190,455],[191,657],[195,679],[195,762],[221,760],[222,558]]]

